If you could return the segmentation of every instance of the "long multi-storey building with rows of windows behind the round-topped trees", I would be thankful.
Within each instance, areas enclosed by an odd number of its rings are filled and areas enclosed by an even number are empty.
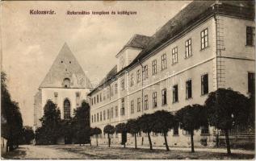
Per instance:
[[[154,35],[133,36],[116,55],[115,67],[88,94],[90,125],[103,130],[156,110],[175,113],[186,105],[204,105],[208,93],[219,88],[249,96],[254,89],[254,23],[251,2],[195,1]],[[195,132],[195,146],[214,146],[216,134],[215,128],[202,127]],[[153,146],[164,145],[161,134],[152,136]],[[111,137],[120,144],[120,134]],[[134,144],[132,135],[127,140]],[[137,134],[137,140],[149,144],[146,134]],[[180,128],[171,130],[167,140],[171,147],[191,145],[190,135]],[[99,136],[99,143],[107,143],[107,134]]]

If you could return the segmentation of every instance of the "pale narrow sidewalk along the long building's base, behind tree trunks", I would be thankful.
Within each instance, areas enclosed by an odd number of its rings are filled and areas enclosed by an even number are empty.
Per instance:
[[[107,147],[107,145],[99,145],[102,147]],[[116,145],[113,144],[111,145],[111,147],[124,147],[123,145]],[[134,148],[134,145],[128,145],[126,147],[130,147],[130,148]],[[137,146],[138,148],[142,148],[142,149],[149,149],[149,146]],[[191,151],[191,147],[169,147],[170,151],[172,150],[176,150],[176,151]],[[153,149],[160,149],[160,150],[166,150],[166,147],[154,147]],[[204,152],[211,152],[211,153],[227,153],[227,149],[224,147],[220,147],[220,148],[216,148],[216,147],[195,147],[195,152],[196,151],[204,151]],[[244,154],[244,155],[255,155],[255,151],[253,150],[242,150],[242,149],[232,149],[231,148],[231,152],[233,154]]]

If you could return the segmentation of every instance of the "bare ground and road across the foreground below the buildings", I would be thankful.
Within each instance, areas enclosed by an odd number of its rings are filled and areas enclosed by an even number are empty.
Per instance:
[[[233,150],[233,155],[226,155],[225,149],[196,149],[191,153],[189,148],[170,148],[170,151],[157,148],[134,149],[132,147],[95,147],[90,145],[57,145],[57,146],[20,146],[19,149],[3,155],[4,159],[253,159],[254,151]]]

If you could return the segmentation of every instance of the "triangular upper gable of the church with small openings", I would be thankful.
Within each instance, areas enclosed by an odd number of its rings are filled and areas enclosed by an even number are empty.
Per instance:
[[[90,81],[65,43],[40,88],[90,88]]]

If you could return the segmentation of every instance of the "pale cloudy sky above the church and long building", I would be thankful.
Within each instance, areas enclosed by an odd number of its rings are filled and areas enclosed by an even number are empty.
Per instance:
[[[66,42],[93,85],[116,64],[135,34],[153,35],[189,1],[2,2],[1,70],[23,125],[33,125],[34,95]],[[30,14],[54,10],[56,14]],[[68,15],[80,11],[136,11],[135,15]],[[0,42],[0,43],[1,43]]]

